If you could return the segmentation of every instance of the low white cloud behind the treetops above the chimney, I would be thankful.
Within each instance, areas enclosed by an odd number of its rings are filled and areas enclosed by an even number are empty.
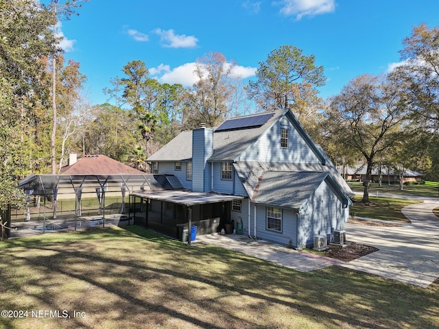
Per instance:
[[[195,62],[191,62],[171,70],[169,65],[160,64],[156,68],[150,69],[150,73],[156,75],[156,79],[161,83],[182,84],[185,87],[190,87],[199,80],[198,76],[194,73],[196,65]],[[231,64],[227,63],[226,65],[230,66]],[[237,79],[244,80],[255,75],[256,70],[254,67],[234,65],[231,73]],[[163,75],[161,75],[162,73]],[[204,73],[206,74],[207,71],[204,71]]]

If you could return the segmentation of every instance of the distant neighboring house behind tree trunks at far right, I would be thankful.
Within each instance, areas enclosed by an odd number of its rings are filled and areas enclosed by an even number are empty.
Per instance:
[[[367,164],[357,164],[354,167],[346,167],[344,169],[344,178],[346,180],[357,180],[359,182],[364,182],[366,179],[366,169]],[[379,166],[378,164],[372,168],[372,182],[379,181]],[[413,170],[405,169],[403,173],[403,182],[420,182],[423,180],[424,175]],[[393,168],[389,168],[383,164],[381,166],[381,180],[383,182],[399,182],[400,180],[399,172],[396,172]]]

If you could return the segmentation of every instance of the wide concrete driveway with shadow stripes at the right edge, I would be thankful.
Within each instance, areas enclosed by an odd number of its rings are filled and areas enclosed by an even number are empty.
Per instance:
[[[439,277],[439,218],[432,212],[439,206],[439,199],[423,199],[423,203],[403,208],[403,214],[412,221],[409,226],[361,226],[346,223],[348,241],[372,245],[379,251],[341,266],[428,287]]]

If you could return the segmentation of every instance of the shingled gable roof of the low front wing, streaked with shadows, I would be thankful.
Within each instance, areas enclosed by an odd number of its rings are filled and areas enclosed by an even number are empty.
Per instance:
[[[300,209],[324,181],[335,187],[335,194],[343,204],[350,202],[327,171],[264,171],[258,181],[252,197],[252,202],[257,204]]]

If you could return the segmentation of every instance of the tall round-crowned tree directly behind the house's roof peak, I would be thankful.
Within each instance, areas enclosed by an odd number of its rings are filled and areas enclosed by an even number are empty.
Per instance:
[[[306,56],[292,45],[274,49],[267,60],[259,63],[257,81],[250,81],[248,94],[265,110],[290,108],[297,112],[316,96],[316,87],[323,86],[326,78],[323,66],[314,64],[313,55]],[[296,110],[294,108],[296,107]]]

